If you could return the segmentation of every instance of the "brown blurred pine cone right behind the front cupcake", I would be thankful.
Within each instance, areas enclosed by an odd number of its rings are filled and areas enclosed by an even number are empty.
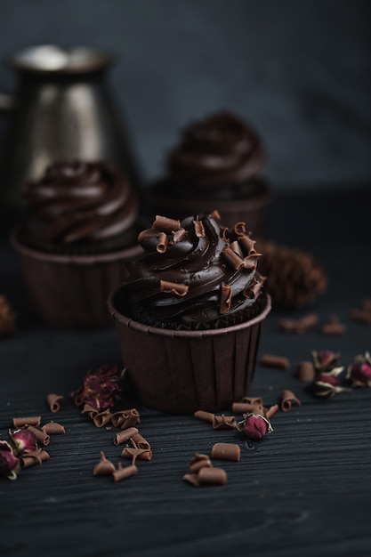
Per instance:
[[[311,254],[264,240],[258,240],[255,248],[262,254],[258,267],[267,277],[265,285],[275,308],[300,309],[325,291],[327,275]]]

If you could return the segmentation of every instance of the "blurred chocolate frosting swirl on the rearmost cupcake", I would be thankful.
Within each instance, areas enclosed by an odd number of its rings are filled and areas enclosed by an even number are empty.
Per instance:
[[[259,136],[227,111],[188,126],[167,161],[171,179],[206,190],[244,182],[263,164]]]

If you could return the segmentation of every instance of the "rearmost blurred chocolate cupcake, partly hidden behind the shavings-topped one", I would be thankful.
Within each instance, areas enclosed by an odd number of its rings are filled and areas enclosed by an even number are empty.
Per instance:
[[[165,177],[149,186],[150,210],[182,219],[198,208],[217,209],[227,226],[243,221],[262,236],[271,198],[264,162],[262,141],[244,120],[231,112],[206,117],[184,130]]]

